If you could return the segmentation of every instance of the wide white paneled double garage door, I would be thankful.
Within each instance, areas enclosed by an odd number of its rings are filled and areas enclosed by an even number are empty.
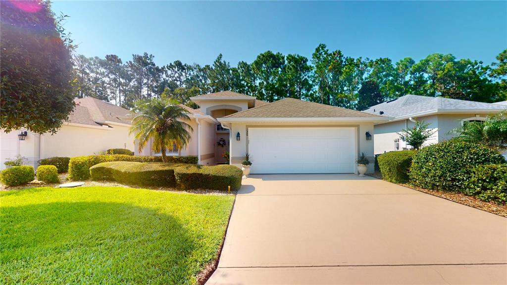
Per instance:
[[[249,128],[251,173],[354,173],[355,137],[355,128]]]

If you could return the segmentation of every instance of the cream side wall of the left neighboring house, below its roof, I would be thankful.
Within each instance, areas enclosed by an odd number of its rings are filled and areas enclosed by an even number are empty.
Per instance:
[[[134,151],[134,137],[129,127],[108,129],[63,125],[56,134],[42,135],[41,158],[99,154],[107,149]]]

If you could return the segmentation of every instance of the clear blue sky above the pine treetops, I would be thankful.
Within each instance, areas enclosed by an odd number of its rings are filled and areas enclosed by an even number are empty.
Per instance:
[[[55,1],[77,53],[104,57],[151,53],[211,64],[219,53],[235,66],[264,51],[308,58],[319,43],[353,57],[431,53],[489,64],[507,48],[507,2],[77,2]]]

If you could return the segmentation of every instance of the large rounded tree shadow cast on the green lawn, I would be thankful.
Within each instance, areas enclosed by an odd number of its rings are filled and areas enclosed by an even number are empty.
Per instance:
[[[195,241],[180,221],[124,203],[3,207],[3,283],[191,283]]]

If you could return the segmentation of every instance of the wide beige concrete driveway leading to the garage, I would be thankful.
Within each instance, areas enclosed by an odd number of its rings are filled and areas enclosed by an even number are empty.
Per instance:
[[[506,284],[507,219],[353,174],[251,175],[207,284]]]

